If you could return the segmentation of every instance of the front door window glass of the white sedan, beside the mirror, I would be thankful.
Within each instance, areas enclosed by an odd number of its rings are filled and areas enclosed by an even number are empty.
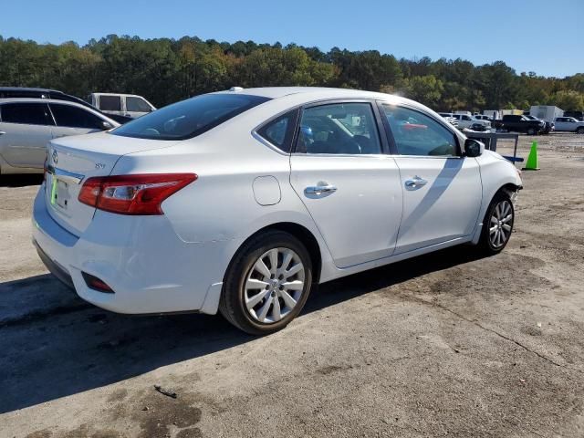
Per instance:
[[[456,155],[454,133],[421,112],[383,105],[401,155]]]

